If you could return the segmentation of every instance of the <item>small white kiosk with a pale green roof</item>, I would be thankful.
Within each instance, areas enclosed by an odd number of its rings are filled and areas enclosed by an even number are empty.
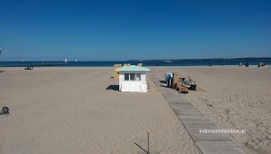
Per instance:
[[[119,91],[147,91],[145,72],[150,69],[130,65],[118,68],[116,71],[119,72]]]

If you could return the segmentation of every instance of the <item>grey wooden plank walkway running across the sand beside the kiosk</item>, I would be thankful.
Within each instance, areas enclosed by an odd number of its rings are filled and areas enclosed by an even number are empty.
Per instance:
[[[150,73],[150,76],[203,154],[245,153],[224,133],[200,133],[200,130],[219,128],[208,117],[202,115],[192,103],[182,100],[182,94],[165,87],[166,84],[160,82],[162,79],[157,74]]]

